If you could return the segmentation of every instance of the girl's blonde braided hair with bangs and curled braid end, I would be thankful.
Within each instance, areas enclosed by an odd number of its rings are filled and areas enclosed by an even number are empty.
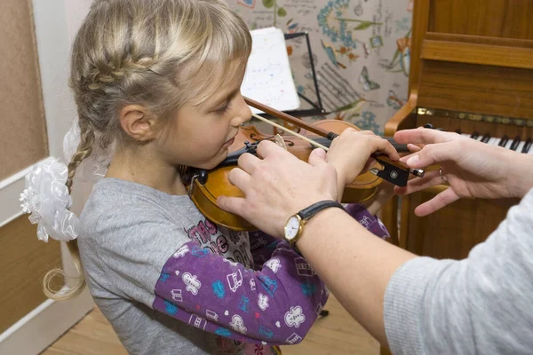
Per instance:
[[[130,139],[118,119],[123,106],[146,106],[158,119],[168,119],[185,103],[209,99],[219,89],[212,78],[223,83],[231,63],[245,66],[250,52],[249,29],[222,0],[96,0],[72,51],[69,85],[81,140],[68,164],[69,191],[76,168],[95,145],[107,149]],[[198,73],[206,78],[201,83]],[[68,249],[78,276],[67,291],[58,292],[51,281],[65,273],[48,272],[44,294],[52,299],[84,290],[76,241],[69,241]]]

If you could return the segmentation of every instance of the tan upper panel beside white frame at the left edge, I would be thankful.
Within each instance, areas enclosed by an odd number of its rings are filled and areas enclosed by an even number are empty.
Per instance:
[[[0,4],[0,180],[48,156],[31,4]]]

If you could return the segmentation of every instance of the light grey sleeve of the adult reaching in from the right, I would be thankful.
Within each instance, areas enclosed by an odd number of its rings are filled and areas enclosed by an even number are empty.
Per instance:
[[[393,275],[385,327],[394,354],[530,354],[533,190],[461,261],[418,257]]]

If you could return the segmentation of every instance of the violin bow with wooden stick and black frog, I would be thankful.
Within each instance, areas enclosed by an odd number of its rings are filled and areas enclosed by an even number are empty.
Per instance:
[[[338,137],[338,134],[337,133],[334,133],[334,132],[330,132],[330,131],[327,131],[327,130],[322,130],[320,127],[314,127],[313,125],[303,121],[303,120],[300,120],[299,118],[297,117],[293,117],[291,116],[290,114],[285,114],[284,112],[281,112],[281,111],[278,111],[276,109],[274,109],[273,107],[270,107],[270,106],[267,106],[267,105],[263,105],[261,103],[259,103],[258,101],[255,101],[253,99],[249,99],[249,98],[244,98],[244,101],[246,102],[246,104],[248,104],[248,106],[252,106],[252,107],[255,107],[261,111],[263,111],[264,113],[266,114],[270,114],[271,116],[274,116],[276,118],[279,118],[283,121],[286,121],[286,122],[290,122],[300,128],[303,128],[305,130],[308,130],[320,137],[323,137],[323,138],[328,138],[329,140],[333,140],[335,138]],[[290,134],[293,134],[293,135],[296,135],[298,136],[299,138],[302,138],[301,135],[299,135],[298,133],[295,133],[291,130],[288,130],[274,122],[270,122],[268,121],[267,119],[263,118],[263,117],[260,117],[258,116],[257,114],[253,114],[254,117],[257,117],[258,119],[260,119],[261,121],[263,122],[267,122],[268,124],[271,124],[271,125],[274,125],[275,127],[278,127],[282,130],[285,130],[287,131],[288,133]],[[316,144],[314,144],[315,142],[312,142],[310,141],[310,139],[306,138],[305,139],[306,141],[308,141],[310,144],[316,146]],[[324,148],[324,146],[321,146],[322,148]],[[325,149],[327,150],[327,149]],[[373,169],[370,169],[370,172],[378,177],[381,177],[383,178],[384,180],[388,181],[389,183],[392,183],[394,185],[398,185],[398,186],[401,186],[401,187],[404,187],[407,185],[407,182],[409,180],[409,175],[412,174],[416,177],[424,177],[424,170],[419,170],[419,169],[410,169],[410,167],[408,167],[407,165],[405,165],[404,163],[402,162],[394,162],[392,161],[388,156],[386,155],[381,155],[381,154],[372,154],[371,155],[374,159],[376,159],[376,161],[378,161],[382,166],[383,166],[383,170],[378,170],[376,168],[373,168]]]

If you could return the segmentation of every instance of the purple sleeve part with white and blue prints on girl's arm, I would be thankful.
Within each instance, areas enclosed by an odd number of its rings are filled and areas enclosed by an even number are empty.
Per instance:
[[[153,308],[246,343],[299,343],[328,298],[306,260],[282,241],[253,271],[200,248],[181,246],[164,264]]]

